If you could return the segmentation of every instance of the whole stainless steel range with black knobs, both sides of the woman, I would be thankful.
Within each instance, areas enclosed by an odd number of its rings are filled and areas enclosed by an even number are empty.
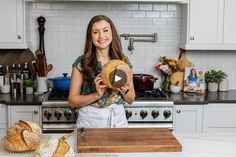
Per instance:
[[[42,103],[42,131],[71,132],[78,109],[68,105],[68,92],[52,90]],[[126,105],[129,127],[164,127],[173,129],[173,102],[159,89],[137,92],[132,105]]]

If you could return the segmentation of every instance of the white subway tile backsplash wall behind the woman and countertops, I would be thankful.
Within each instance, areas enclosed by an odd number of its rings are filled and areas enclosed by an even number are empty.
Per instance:
[[[158,78],[154,66],[159,56],[177,59],[180,38],[181,5],[174,3],[112,3],[112,2],[61,2],[27,3],[27,33],[30,49],[34,52],[39,46],[37,17],[46,18],[45,49],[48,63],[54,65],[49,77],[71,72],[71,64],[82,54],[85,32],[91,17],[97,14],[109,16],[115,23],[118,33],[158,33],[157,43],[134,43],[133,54],[127,50],[128,40],[122,40],[124,53],[130,58],[134,73],[152,74]],[[230,60],[226,57],[230,55]],[[225,70],[230,78],[236,73],[235,52],[190,52],[188,57],[195,65],[206,70]],[[161,79],[159,79],[161,80]],[[232,80],[231,80],[232,81]],[[160,81],[155,84],[159,86]],[[236,83],[230,82],[230,88]]]

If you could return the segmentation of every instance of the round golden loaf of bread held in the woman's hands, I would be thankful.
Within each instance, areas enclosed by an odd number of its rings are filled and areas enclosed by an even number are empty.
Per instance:
[[[103,66],[101,76],[108,88],[117,89],[130,81],[131,73],[131,69],[124,61],[114,59]]]

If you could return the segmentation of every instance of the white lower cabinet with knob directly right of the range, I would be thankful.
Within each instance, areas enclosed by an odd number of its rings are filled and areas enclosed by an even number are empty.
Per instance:
[[[202,132],[202,108],[203,105],[175,105],[174,132]]]

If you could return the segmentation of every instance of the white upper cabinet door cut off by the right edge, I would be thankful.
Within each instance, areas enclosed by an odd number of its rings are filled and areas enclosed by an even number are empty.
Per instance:
[[[224,44],[236,44],[236,0],[225,0]]]

